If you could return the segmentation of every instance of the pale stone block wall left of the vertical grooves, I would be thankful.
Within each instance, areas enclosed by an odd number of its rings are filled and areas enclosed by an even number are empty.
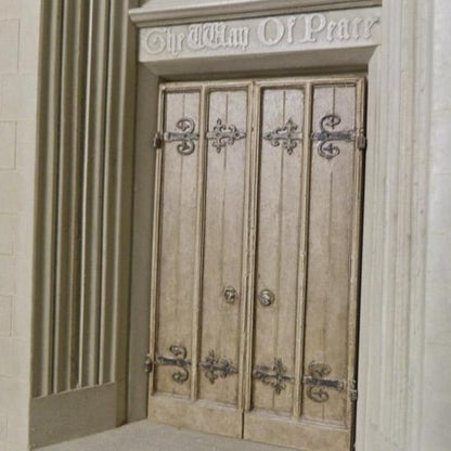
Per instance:
[[[28,442],[40,0],[0,0],[0,450]]]

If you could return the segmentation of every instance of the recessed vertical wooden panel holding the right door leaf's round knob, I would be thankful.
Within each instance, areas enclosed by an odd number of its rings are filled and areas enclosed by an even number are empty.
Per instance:
[[[259,371],[274,374],[280,364],[295,374],[298,300],[299,239],[301,230],[304,92],[301,89],[265,89],[262,92],[259,208],[256,262],[253,407],[289,414],[294,385],[272,387]],[[278,128],[291,128],[293,144],[278,140]],[[272,133],[272,134],[268,134]],[[259,294],[274,299],[263,305]]]

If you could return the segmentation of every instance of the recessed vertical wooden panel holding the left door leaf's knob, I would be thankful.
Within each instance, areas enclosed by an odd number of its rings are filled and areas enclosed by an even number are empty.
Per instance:
[[[214,91],[208,99],[199,399],[239,404],[246,217],[247,92]],[[236,127],[236,139],[212,130]]]

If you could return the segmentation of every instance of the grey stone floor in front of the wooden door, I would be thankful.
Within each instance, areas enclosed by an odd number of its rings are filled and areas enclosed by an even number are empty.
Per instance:
[[[39,451],[288,451],[246,440],[201,434],[193,430],[149,423],[125,425],[117,429],[70,440]],[[293,450],[292,450],[293,451]]]

